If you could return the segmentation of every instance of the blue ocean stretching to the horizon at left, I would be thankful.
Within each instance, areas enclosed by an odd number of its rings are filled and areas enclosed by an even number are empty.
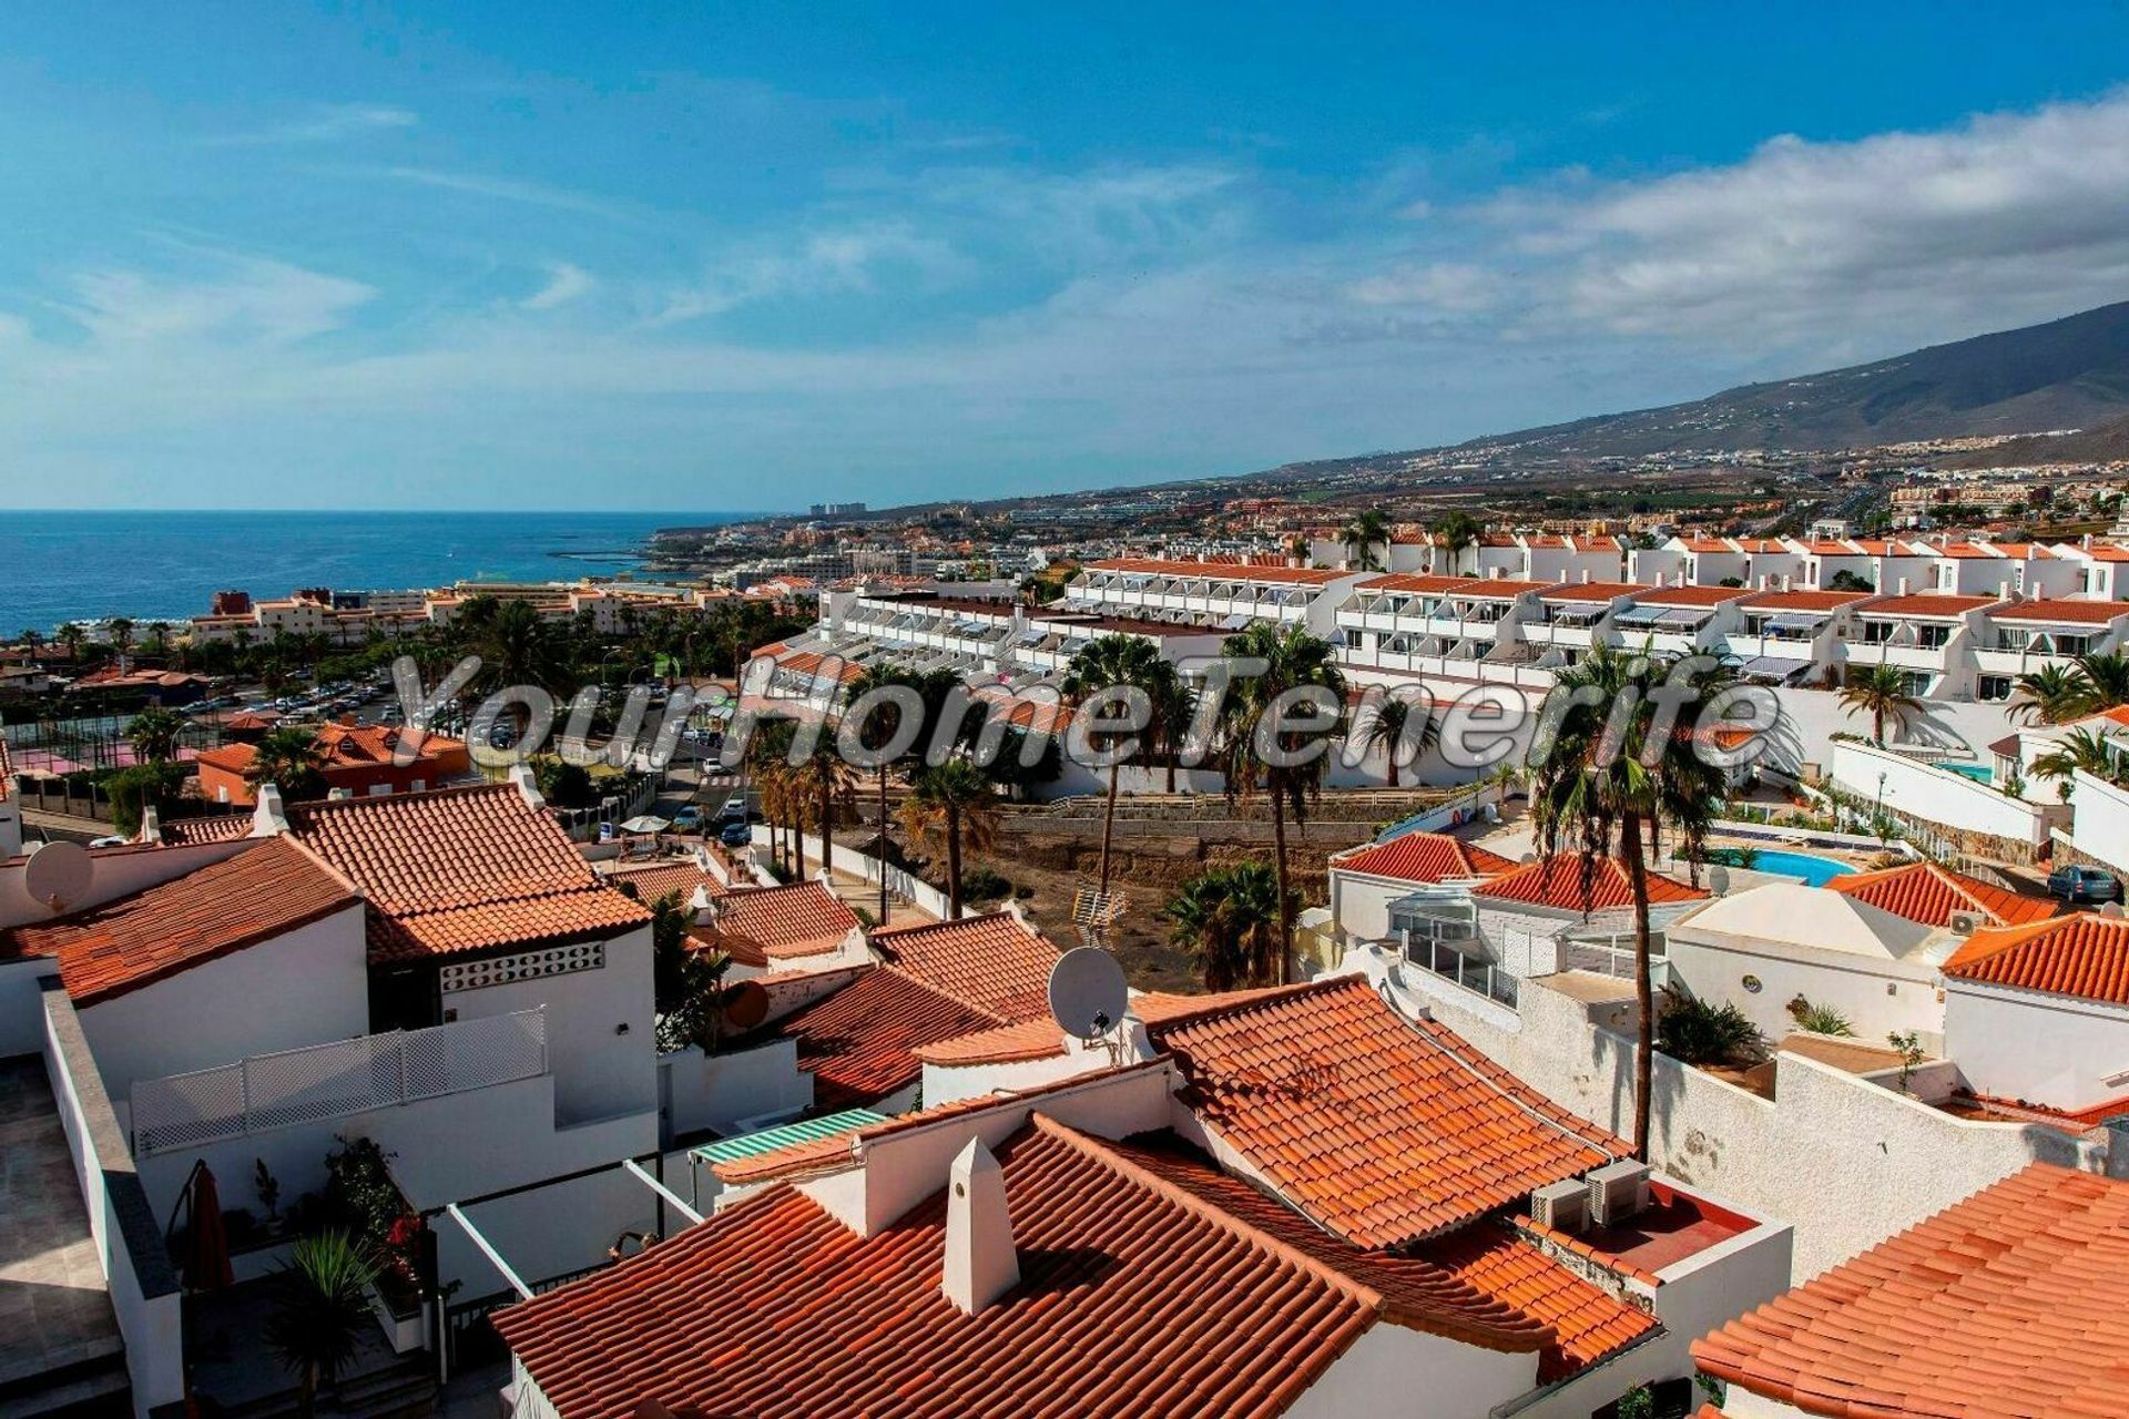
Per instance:
[[[6,513],[0,638],[207,615],[215,591],[377,591],[626,572],[658,528],[741,513]]]

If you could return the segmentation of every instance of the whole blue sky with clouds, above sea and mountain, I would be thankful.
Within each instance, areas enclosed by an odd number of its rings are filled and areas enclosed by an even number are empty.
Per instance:
[[[2129,298],[2120,4],[1420,9],[17,6],[0,504],[1058,491]]]

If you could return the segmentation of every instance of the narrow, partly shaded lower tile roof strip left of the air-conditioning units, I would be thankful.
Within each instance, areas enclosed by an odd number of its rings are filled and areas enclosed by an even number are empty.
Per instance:
[[[1490,1351],[1539,1351],[1550,1385],[1656,1332],[1656,1319],[1567,1270],[1499,1223],[1475,1223],[1409,1253],[1343,1242],[1277,1198],[1216,1168],[1173,1134],[1109,1145],[1248,1228],[1384,1300],[1384,1319]]]

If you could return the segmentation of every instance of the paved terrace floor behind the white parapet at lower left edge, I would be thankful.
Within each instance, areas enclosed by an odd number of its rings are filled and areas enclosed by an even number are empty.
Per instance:
[[[45,1062],[0,1059],[0,1385],[119,1349]]]

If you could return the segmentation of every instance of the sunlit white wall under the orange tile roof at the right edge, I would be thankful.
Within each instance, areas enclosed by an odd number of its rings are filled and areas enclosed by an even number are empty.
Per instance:
[[[2129,1096],[2129,1006],[1957,976],[1944,991],[1946,1053],[1976,1094],[2072,1113]]]

